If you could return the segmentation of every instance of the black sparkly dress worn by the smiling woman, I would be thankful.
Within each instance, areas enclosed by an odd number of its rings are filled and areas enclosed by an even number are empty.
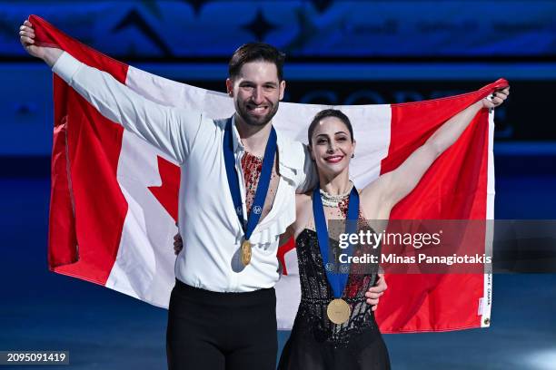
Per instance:
[[[352,264],[343,291],[343,299],[352,309],[351,315],[348,321],[336,325],[326,315],[333,291],[323,268],[316,232],[303,229],[295,241],[302,299],[278,369],[390,369],[388,350],[372,307],[364,297],[374,284],[376,274],[355,272]],[[361,254],[362,250],[354,253]]]

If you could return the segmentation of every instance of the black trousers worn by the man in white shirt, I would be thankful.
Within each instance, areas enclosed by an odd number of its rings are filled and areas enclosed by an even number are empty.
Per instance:
[[[274,370],[274,289],[217,293],[176,279],[166,330],[171,370]]]

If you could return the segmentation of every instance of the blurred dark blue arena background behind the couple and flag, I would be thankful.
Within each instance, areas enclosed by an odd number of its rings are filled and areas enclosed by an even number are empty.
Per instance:
[[[165,367],[164,310],[47,271],[52,75],[19,44],[30,14],[222,92],[240,44],[273,44],[287,54],[288,102],[421,101],[506,78],[496,218],[556,219],[556,2],[0,1],[0,350],[69,350],[76,369]],[[556,369],[555,312],[554,275],[495,275],[490,328],[385,340],[394,369]]]

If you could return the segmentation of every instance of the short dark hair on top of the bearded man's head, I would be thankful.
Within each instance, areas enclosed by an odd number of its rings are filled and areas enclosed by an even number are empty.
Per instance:
[[[244,63],[264,61],[274,63],[278,72],[278,80],[283,80],[283,61],[285,54],[278,51],[273,45],[264,43],[248,43],[241,45],[232,55],[228,63],[228,74],[230,78],[239,75]]]

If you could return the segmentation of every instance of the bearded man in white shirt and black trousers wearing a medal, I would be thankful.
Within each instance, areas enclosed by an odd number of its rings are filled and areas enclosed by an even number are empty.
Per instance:
[[[268,44],[240,47],[226,80],[236,112],[213,121],[145,100],[63,50],[35,45],[29,21],[20,40],[106,118],[180,164],[178,226],[187,248],[175,264],[168,366],[273,369],[278,238],[293,223],[295,191],[313,185],[303,145],[272,126],[285,89],[283,54]],[[381,279],[369,303],[384,289]]]

